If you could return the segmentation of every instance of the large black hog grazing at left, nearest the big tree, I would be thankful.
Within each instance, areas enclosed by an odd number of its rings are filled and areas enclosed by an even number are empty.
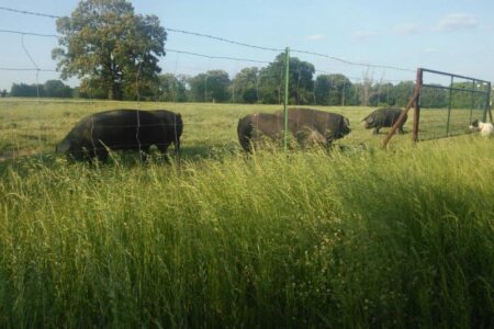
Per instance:
[[[82,118],[57,145],[75,160],[106,160],[108,150],[141,150],[149,154],[155,145],[162,155],[173,144],[180,150],[183,122],[180,114],[166,110],[112,110]]]

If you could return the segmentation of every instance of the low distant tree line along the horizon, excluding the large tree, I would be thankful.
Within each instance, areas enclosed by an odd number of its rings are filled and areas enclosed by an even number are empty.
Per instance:
[[[284,99],[284,54],[277,56],[267,67],[246,67],[235,77],[221,69],[209,70],[197,76],[162,73],[156,82],[148,84],[139,94],[125,93],[123,100],[160,102],[209,102],[281,104]],[[299,58],[290,59],[289,102],[296,105],[337,106],[404,106],[412,98],[415,83],[401,81],[373,81],[364,77],[352,82],[341,73],[315,75],[314,65]],[[453,87],[470,89],[464,82]],[[48,80],[43,84],[13,83],[10,93],[1,97],[80,98],[106,99],[104,90],[94,86],[71,88],[60,80]],[[447,107],[449,90],[423,88],[422,104],[425,107]],[[481,106],[484,98],[470,92],[452,92],[451,106]]]

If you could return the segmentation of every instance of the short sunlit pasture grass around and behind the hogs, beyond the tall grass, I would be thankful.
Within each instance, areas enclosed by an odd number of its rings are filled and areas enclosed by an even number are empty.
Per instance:
[[[338,141],[341,145],[379,145],[386,128],[380,136],[364,131],[360,121],[371,107],[328,107],[311,106],[340,113],[349,117],[352,133]],[[236,135],[238,118],[256,112],[274,112],[281,105],[242,104],[191,104],[191,103],[135,103],[101,101],[60,100],[0,100],[0,157],[38,152],[53,152],[56,143],[61,140],[75,123],[82,117],[112,109],[167,109],[180,112],[184,122],[182,136],[186,159],[203,158],[224,149],[239,149]],[[411,131],[412,120],[405,128]],[[396,136],[408,143],[409,134]],[[400,141],[397,141],[400,143]]]

